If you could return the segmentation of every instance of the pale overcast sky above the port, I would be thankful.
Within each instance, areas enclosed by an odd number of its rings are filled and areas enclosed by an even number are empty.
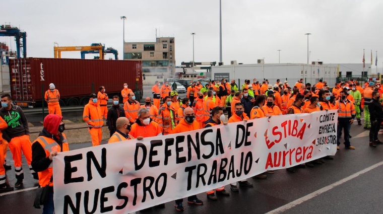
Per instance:
[[[27,32],[28,57],[53,57],[53,42],[60,46],[104,43],[122,59],[122,20],[125,40],[154,41],[175,37],[176,65],[193,60],[219,61],[219,0],[66,0],[4,1],[0,20]],[[223,61],[306,63],[309,35],[310,61],[366,63],[375,51],[382,67],[383,1],[376,0],[222,0]],[[4,23],[2,23],[4,24]],[[9,37],[0,42],[10,44]],[[15,48],[12,40],[12,47]],[[80,52],[62,57],[80,58]],[[111,56],[107,56],[111,57]],[[93,58],[89,54],[87,58]]]

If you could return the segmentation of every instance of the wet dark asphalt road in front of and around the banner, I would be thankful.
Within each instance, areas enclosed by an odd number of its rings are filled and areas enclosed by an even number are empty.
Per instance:
[[[248,179],[253,188],[240,187],[229,197],[209,201],[206,193],[199,194],[204,205],[190,205],[184,201],[183,213],[383,213],[383,145],[368,146],[368,130],[351,128],[351,145],[356,150],[341,150],[334,160],[326,160],[314,168],[286,170],[268,174],[267,180]],[[379,134],[380,139],[383,137]],[[343,142],[343,140],[341,140]],[[89,147],[90,143],[70,145],[71,150]],[[8,162],[12,164],[11,154]],[[16,191],[0,194],[1,213],[41,213],[32,207],[37,180],[33,180],[25,161],[24,185]],[[16,182],[14,170],[7,171],[9,183]],[[17,192],[20,191],[21,192]],[[25,191],[23,191],[25,190]],[[226,186],[230,191],[230,187]],[[143,211],[140,211],[143,213]],[[145,213],[177,213],[174,202],[165,208],[151,208]]]

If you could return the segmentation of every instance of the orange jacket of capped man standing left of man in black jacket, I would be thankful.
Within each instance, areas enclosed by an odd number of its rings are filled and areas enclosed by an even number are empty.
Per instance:
[[[100,105],[89,100],[84,106],[83,120],[88,123],[89,128],[101,128],[104,125]]]

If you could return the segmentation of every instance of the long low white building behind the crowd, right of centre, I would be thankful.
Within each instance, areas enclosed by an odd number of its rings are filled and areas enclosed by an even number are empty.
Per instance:
[[[335,86],[338,77],[338,66],[315,64],[231,64],[212,67],[212,80],[225,78],[235,80],[242,85],[244,80],[256,78],[260,83],[269,80],[274,85],[277,79],[281,82],[287,80],[290,86],[303,79],[303,83],[316,84],[320,79],[327,81],[331,88]]]

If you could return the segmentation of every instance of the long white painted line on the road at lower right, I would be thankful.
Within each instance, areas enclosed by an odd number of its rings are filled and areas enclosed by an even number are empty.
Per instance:
[[[370,170],[373,170],[376,167],[379,167],[381,165],[383,165],[383,161],[381,161],[381,162],[379,162],[377,164],[374,164],[374,165],[372,165],[372,166],[370,166],[368,168],[365,168],[364,170],[356,172],[356,173],[354,173],[354,174],[352,174],[352,175],[350,175],[350,176],[348,176],[346,178],[343,178],[342,180],[339,180],[339,181],[337,181],[335,183],[332,183],[332,184],[330,184],[328,186],[325,186],[322,189],[316,190],[315,192],[312,192],[312,193],[310,193],[308,195],[305,195],[305,196],[303,196],[301,198],[298,198],[298,199],[296,199],[296,200],[294,200],[294,201],[292,201],[292,202],[290,202],[288,204],[285,204],[285,205],[280,206],[280,207],[278,207],[278,208],[276,208],[274,210],[271,210],[270,212],[267,212],[266,214],[274,214],[274,213],[281,213],[281,212],[287,211],[287,210],[293,208],[294,206],[297,206],[297,205],[299,205],[299,204],[301,204],[301,203],[303,203],[305,201],[310,200],[311,198],[313,198],[315,196],[318,196],[318,195],[320,195],[322,193],[325,193],[325,192],[333,189],[334,187],[337,187],[337,186],[339,186],[339,185],[341,185],[343,183],[346,183],[347,181],[349,181],[351,179],[354,179],[354,178],[358,177],[359,175],[362,175],[362,174],[364,174],[364,173],[366,173],[366,172],[368,172]]]

